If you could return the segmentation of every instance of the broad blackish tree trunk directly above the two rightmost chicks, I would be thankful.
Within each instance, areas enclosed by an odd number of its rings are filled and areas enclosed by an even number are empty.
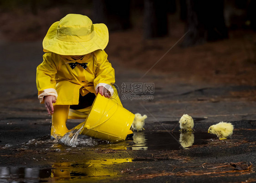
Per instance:
[[[228,37],[223,15],[223,0],[187,0],[186,5],[189,33],[183,41],[183,46],[193,46]]]

